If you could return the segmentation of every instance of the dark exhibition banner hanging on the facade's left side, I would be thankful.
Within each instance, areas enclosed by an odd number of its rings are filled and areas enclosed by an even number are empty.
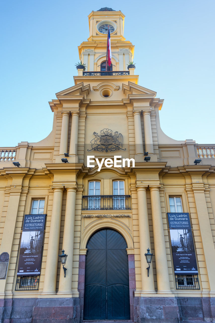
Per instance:
[[[17,276],[40,275],[45,216],[24,216]]]

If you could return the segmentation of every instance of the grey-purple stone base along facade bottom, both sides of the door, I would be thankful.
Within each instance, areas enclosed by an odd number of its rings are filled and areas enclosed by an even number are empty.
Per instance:
[[[13,298],[0,300],[3,323],[79,323],[79,298]],[[134,297],[134,322],[215,322],[215,298]]]

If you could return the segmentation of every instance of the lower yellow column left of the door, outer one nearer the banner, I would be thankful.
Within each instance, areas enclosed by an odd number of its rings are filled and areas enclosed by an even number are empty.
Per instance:
[[[53,206],[46,258],[43,294],[56,293],[63,187],[53,188]]]

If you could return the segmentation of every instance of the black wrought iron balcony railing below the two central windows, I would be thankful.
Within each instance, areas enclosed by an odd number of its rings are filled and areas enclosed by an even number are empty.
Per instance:
[[[131,210],[131,195],[84,195],[82,210]]]

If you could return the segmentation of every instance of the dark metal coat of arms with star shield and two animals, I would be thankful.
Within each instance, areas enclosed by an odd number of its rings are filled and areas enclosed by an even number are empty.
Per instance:
[[[91,140],[92,149],[87,149],[87,151],[116,151],[116,150],[126,150],[123,147],[123,136],[122,133],[115,131],[112,135],[112,130],[103,129],[100,131],[101,135],[97,132],[93,132],[94,138]]]

